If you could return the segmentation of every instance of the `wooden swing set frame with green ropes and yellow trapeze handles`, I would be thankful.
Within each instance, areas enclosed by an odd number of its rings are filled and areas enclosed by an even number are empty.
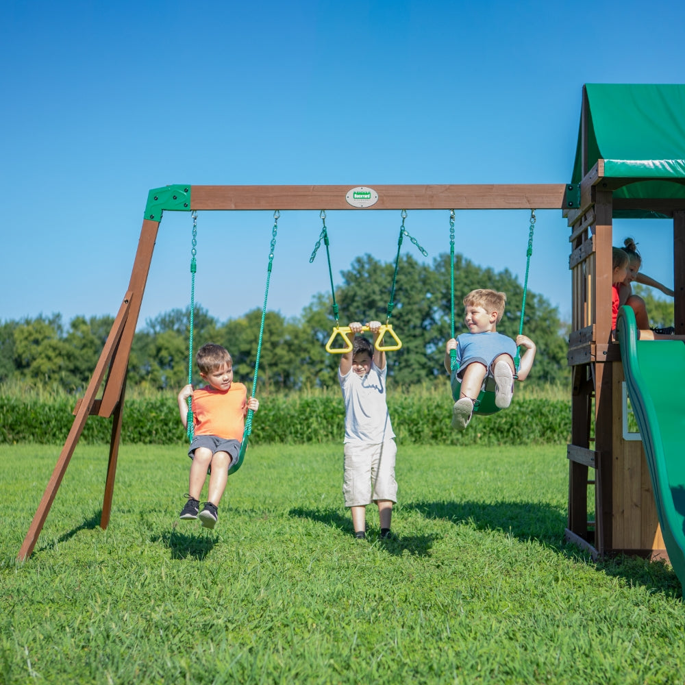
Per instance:
[[[269,254],[269,266],[266,278],[266,291],[264,294],[264,308],[262,309],[262,325],[260,326],[260,338],[258,354],[255,362],[252,393],[254,395],[257,382],[259,356],[262,344],[262,332],[264,314],[266,313],[266,297],[269,290],[269,278],[273,262],[275,247],[277,219],[282,210],[319,210],[326,207],[329,210],[401,210],[403,219],[406,218],[407,210],[488,210],[488,209],[553,209],[573,208],[577,202],[566,199],[567,186],[565,184],[472,184],[472,185],[382,185],[374,186],[373,189],[365,186],[350,188],[350,186],[190,186],[173,185],[164,188],[153,188],[149,191],[145,214],[142,220],[138,249],[134,259],[133,269],[129,285],[117,312],[110,334],[103,347],[100,358],[92,373],[84,397],[76,404],[75,418],[69,435],[66,437],[64,447],[60,452],[58,462],[49,479],[45,492],[36,510],[36,514],[29,525],[29,530],[24,538],[18,553],[18,560],[26,560],[32,553],[47,515],[62,482],[69,462],[79,438],[86,425],[88,416],[103,416],[112,418],[112,432],[110,435],[110,451],[105,479],[105,492],[103,495],[100,527],[105,529],[110,520],[112,510],[112,498],[114,493],[114,479],[116,475],[116,461],[121,441],[121,425],[123,418],[123,406],[125,399],[127,367],[131,352],[134,333],[140,314],[142,297],[147,284],[147,277],[152,260],[153,249],[158,237],[160,222],[164,212],[180,211],[195,212],[217,210],[271,210],[278,208],[274,213],[274,225],[272,230],[271,252]],[[321,212],[324,220],[322,239],[326,244],[327,231],[325,229],[325,212]],[[531,225],[532,226],[532,225]],[[194,240],[196,234],[194,233]],[[404,221],[401,227],[398,242],[398,257],[401,242],[404,236],[408,236],[404,229]],[[532,234],[531,234],[532,236]],[[414,239],[412,238],[412,242]],[[416,243],[416,246],[423,249]],[[195,243],[192,247],[195,251]],[[529,247],[530,249],[530,247]],[[191,260],[191,307],[194,309],[194,258]],[[529,256],[530,258],[530,256]],[[313,259],[313,256],[312,256]],[[379,349],[400,349],[401,340],[390,324],[390,317],[394,306],[395,281],[397,279],[397,260],[395,264],[395,277],[393,288],[388,303],[388,316],[382,334],[377,339]],[[330,271],[330,262],[329,262]],[[330,272],[332,274],[332,272]],[[331,275],[332,277],[332,275]],[[453,309],[453,308],[452,308]],[[345,327],[340,327],[338,321],[337,306],[334,301],[334,316],[336,327],[327,343],[327,349],[332,353],[344,353],[349,345],[345,336]],[[523,321],[523,311],[521,312]],[[190,324],[192,331],[192,321]],[[349,332],[349,330],[347,331]],[[191,333],[192,336],[192,333]],[[392,338],[392,342],[383,342],[384,336]],[[338,337],[343,338],[343,347],[334,347],[334,341]],[[189,347],[192,345],[192,338]],[[189,366],[192,365],[192,351]],[[189,372],[190,375],[190,372]],[[101,397],[97,397],[101,391]],[[191,423],[189,421],[189,423]],[[242,464],[242,458],[247,448],[247,438],[251,432],[252,416],[248,412],[245,422],[245,434],[243,436],[240,458],[232,468],[236,471]]]

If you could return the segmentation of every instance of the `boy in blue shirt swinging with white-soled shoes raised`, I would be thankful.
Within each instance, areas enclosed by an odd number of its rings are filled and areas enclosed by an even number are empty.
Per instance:
[[[495,382],[495,405],[500,409],[510,405],[514,393],[516,347],[525,349],[517,376],[520,381],[527,378],[533,366],[536,347],[530,338],[520,335],[512,340],[497,333],[506,299],[503,292],[496,290],[471,290],[464,297],[464,322],[469,332],[447,340],[445,369],[451,375],[453,385],[461,382],[459,399],[452,410],[452,426],[458,430],[469,425],[474,403],[488,379]],[[450,358],[453,349],[457,351],[454,371]]]

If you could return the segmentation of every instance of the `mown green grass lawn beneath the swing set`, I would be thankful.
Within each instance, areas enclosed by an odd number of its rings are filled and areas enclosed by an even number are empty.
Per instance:
[[[393,532],[354,540],[342,446],[251,447],[214,532],[178,521],[182,447],[79,447],[33,555],[58,447],[0,446],[0,682],[675,683],[664,564],[563,543],[565,446],[401,447]]]

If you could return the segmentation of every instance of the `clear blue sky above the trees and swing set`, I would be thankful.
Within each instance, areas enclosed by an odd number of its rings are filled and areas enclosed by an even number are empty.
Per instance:
[[[147,192],[166,184],[565,183],[582,85],[684,82],[684,23],[662,0],[9,0],[0,320],[116,313]],[[456,249],[523,279],[528,219],[459,212]],[[364,253],[393,260],[400,224],[328,212],[336,281]],[[200,212],[195,297],[220,321],[262,306],[272,226],[272,212]],[[406,227],[429,262],[449,250],[447,212]],[[164,214],[139,325],[188,305],[191,229]],[[329,290],[325,253],[309,262],[320,231],[318,212],[282,212],[269,308],[297,316]],[[671,234],[614,224],[668,285]],[[537,213],[529,287],[562,318],[568,238],[560,211]]]

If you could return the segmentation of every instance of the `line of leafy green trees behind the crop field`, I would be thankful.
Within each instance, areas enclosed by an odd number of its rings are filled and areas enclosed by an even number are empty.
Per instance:
[[[335,298],[340,325],[376,319],[385,323],[395,264],[366,254],[341,273]],[[455,332],[466,332],[462,299],[473,288],[494,288],[507,295],[499,332],[519,333],[523,286],[507,269],[495,272],[457,254],[454,262]],[[262,310],[219,321],[200,305],[193,314],[194,349],[208,341],[232,354],[236,380],[250,382],[254,372]],[[188,380],[190,310],[179,308],[148,319],[135,334],[127,384],[145,390],[177,390]],[[68,324],[60,314],[0,324],[0,383],[10,381],[84,390],[113,316],[76,316]],[[292,319],[267,311],[259,366],[259,392],[336,386],[337,355],[325,351],[334,325],[332,294],[317,293]],[[445,341],[451,336],[450,258],[432,264],[401,256],[390,318],[403,346],[388,353],[395,384],[424,384],[445,374]],[[558,310],[542,295],[527,292],[523,332],[538,347],[527,383],[556,383],[569,378],[566,338]],[[389,342],[389,341],[386,341]],[[193,369],[193,379],[197,373]]]

